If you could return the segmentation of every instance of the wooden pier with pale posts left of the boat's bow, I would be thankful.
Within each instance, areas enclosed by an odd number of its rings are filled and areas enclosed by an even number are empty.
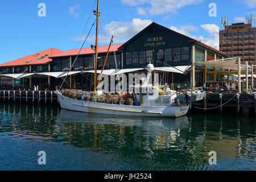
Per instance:
[[[0,100],[34,104],[59,104],[57,94],[54,91],[0,90]]]

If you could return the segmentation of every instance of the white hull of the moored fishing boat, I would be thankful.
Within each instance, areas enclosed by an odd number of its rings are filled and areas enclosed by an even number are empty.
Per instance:
[[[188,112],[188,105],[182,106],[133,106],[105,104],[101,102],[90,102],[74,100],[63,96],[56,90],[60,106],[63,109],[81,111],[85,113],[113,114],[113,115],[135,115],[142,117],[181,117]]]

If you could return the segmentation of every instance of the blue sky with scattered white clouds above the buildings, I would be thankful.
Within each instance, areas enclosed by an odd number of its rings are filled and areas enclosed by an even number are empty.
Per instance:
[[[80,48],[96,7],[97,0],[1,1],[0,64],[52,47]],[[114,44],[125,43],[155,22],[218,49],[221,17],[245,22],[256,13],[256,0],[100,0],[100,13],[99,46],[112,35]],[[95,44],[95,34],[96,26],[84,47]]]

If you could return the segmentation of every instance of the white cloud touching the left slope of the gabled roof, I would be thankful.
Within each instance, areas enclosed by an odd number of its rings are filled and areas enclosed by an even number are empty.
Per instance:
[[[152,21],[150,19],[139,19],[134,18],[131,22],[111,22],[106,24],[103,28],[102,34],[98,38],[98,42],[109,44],[110,38],[114,35],[114,43],[125,43],[132,36],[138,34],[139,31],[143,30]],[[82,36],[81,40],[85,40],[86,36]],[[79,41],[80,37],[72,40]],[[95,35],[88,38],[89,42],[95,42]]]

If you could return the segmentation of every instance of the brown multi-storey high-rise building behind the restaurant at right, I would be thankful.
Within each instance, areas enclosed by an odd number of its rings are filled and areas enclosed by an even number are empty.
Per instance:
[[[220,51],[232,57],[241,57],[241,64],[256,64],[256,27],[233,23],[220,30]]]

